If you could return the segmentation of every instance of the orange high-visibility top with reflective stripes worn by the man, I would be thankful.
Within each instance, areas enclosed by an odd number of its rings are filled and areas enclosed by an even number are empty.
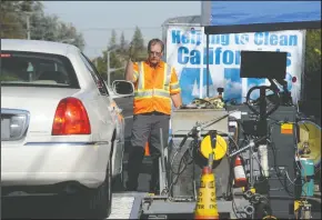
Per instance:
[[[180,92],[177,73],[161,61],[154,69],[148,61],[133,63],[133,114],[158,111],[171,113],[171,94]]]

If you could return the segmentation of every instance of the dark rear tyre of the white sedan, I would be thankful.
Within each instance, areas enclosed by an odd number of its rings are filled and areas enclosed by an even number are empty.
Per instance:
[[[112,210],[112,171],[111,160],[107,169],[107,178],[98,189],[88,191],[84,197],[85,211],[90,219],[105,219]]]

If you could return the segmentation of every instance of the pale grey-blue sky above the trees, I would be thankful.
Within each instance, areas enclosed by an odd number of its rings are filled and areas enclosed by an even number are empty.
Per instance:
[[[83,33],[84,53],[94,58],[107,48],[111,29],[123,30],[128,41],[138,26],[144,37],[161,38],[161,24],[169,18],[197,16],[201,1],[43,1],[44,12],[71,22]]]

